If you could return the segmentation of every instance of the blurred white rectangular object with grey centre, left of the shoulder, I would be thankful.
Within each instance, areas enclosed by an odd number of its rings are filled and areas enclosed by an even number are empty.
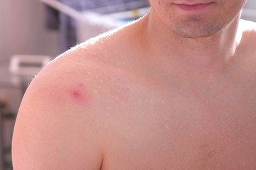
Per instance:
[[[51,57],[45,55],[14,55],[11,57],[9,71],[14,85],[27,84],[46,67]]]

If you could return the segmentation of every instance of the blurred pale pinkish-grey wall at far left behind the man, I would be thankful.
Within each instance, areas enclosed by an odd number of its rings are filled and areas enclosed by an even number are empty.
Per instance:
[[[44,26],[44,6],[38,0],[0,0],[0,81],[10,81],[11,55],[58,55],[58,33]],[[21,93],[0,86],[17,110]]]

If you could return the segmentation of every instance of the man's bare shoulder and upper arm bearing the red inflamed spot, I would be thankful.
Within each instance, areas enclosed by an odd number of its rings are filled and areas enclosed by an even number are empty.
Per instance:
[[[100,169],[104,116],[129,91],[115,36],[74,47],[33,79],[14,130],[15,169]]]

